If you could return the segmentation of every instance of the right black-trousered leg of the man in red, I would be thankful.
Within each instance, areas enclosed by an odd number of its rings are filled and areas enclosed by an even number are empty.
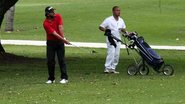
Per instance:
[[[58,63],[60,66],[60,71],[61,71],[61,79],[68,80],[66,63],[65,63],[65,47],[63,43],[59,44],[58,46],[57,57],[58,57]]]

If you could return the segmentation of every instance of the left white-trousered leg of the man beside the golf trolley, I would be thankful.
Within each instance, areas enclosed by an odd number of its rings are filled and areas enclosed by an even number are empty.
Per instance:
[[[110,43],[107,43],[107,57],[105,61],[105,70],[112,69],[112,64],[114,62],[114,53],[115,47],[113,45],[110,45]]]

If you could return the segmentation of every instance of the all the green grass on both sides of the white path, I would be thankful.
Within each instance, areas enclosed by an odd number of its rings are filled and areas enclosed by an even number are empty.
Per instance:
[[[161,3],[159,2],[161,1]],[[42,27],[44,8],[55,7],[64,19],[66,37],[77,42],[105,42],[99,24],[118,5],[128,31],[137,31],[149,44],[184,45],[185,14],[183,0],[19,0],[16,4],[15,32],[0,39],[45,40]],[[159,5],[160,4],[160,5]],[[5,24],[5,23],[4,23]],[[176,38],[179,38],[177,41]],[[174,67],[173,76],[155,73],[129,76],[134,63],[132,52],[121,50],[117,70],[104,74],[106,49],[66,48],[69,83],[47,81],[46,49],[36,46],[4,45],[11,59],[0,60],[0,104],[184,104],[185,52],[156,50]],[[91,53],[95,50],[96,53]]]

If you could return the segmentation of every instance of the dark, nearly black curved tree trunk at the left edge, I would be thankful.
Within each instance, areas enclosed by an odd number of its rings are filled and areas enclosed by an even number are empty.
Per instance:
[[[15,5],[17,1],[18,0],[0,0],[0,28],[3,22],[4,14],[8,9],[10,9],[10,7]],[[0,41],[0,53],[5,53],[5,50],[1,45],[1,41]]]

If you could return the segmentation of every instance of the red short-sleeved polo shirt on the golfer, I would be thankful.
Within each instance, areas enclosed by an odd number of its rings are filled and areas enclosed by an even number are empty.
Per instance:
[[[60,36],[62,36],[59,32],[59,25],[63,25],[62,17],[60,14],[55,14],[52,20],[45,19],[43,26],[47,34],[47,40],[59,40],[52,33],[56,31]]]

